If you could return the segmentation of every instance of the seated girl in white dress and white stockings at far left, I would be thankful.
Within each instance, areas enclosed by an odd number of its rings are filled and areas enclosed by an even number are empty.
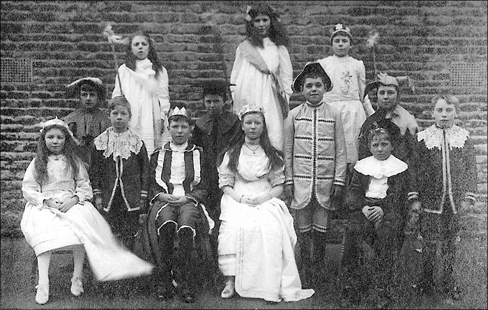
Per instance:
[[[69,247],[74,270],[71,293],[81,295],[85,251],[100,281],[150,274],[153,265],[117,244],[109,225],[90,203],[93,192],[78,144],[58,118],[43,124],[36,157],[26,170],[22,193],[27,203],[20,227],[36,253],[39,282],[36,302],[49,300],[49,262],[53,250]]]

